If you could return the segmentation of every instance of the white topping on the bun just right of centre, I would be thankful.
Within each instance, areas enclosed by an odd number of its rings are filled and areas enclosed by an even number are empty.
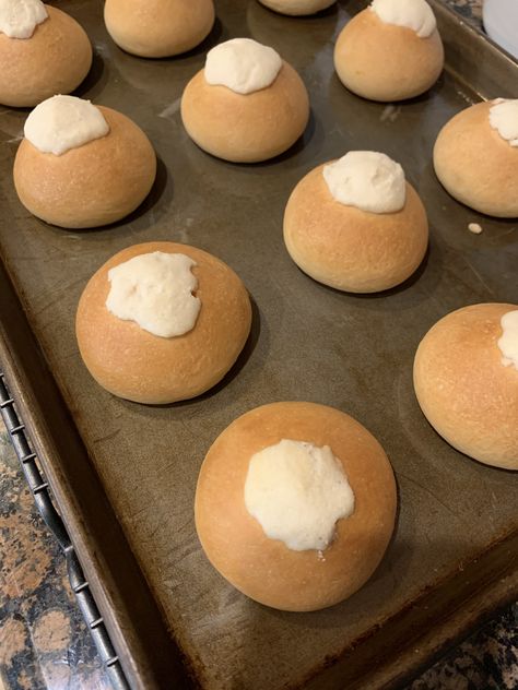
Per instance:
[[[323,167],[335,201],[370,213],[401,211],[407,198],[403,168],[384,153],[350,151]]]

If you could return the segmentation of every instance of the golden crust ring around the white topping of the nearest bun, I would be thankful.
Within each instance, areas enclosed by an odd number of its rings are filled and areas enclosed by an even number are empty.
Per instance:
[[[246,510],[254,453],[282,439],[330,445],[354,491],[354,513],[337,523],[331,545],[294,551],[266,536]],[[243,415],[214,441],[195,501],[198,536],[214,568],[252,599],[292,611],[332,606],[372,575],[393,531],[396,485],[376,439],[349,415],[313,403],[273,403]]]

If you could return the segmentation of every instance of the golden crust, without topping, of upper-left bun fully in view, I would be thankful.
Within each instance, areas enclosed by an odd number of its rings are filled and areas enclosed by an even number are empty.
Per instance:
[[[46,223],[91,228],[120,221],[149,194],[156,156],[144,132],[117,110],[97,106],[109,124],[106,136],[60,156],[27,139],[14,159],[14,186],[23,205]]]

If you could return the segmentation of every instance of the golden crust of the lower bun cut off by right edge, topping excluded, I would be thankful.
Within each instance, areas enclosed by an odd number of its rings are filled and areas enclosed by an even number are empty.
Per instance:
[[[518,469],[518,370],[504,366],[501,319],[517,305],[473,305],[426,333],[414,361],[419,404],[458,451]]]

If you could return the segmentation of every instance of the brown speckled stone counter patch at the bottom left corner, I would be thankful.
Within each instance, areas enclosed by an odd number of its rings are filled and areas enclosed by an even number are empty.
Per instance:
[[[0,689],[108,690],[0,417]]]

